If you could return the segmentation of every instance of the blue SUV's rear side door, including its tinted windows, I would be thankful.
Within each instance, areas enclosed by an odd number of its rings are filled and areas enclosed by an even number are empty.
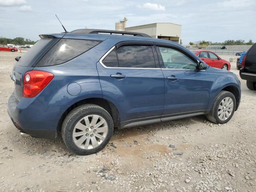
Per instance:
[[[122,42],[97,63],[103,98],[114,103],[120,121],[160,116],[164,76],[152,42]]]

